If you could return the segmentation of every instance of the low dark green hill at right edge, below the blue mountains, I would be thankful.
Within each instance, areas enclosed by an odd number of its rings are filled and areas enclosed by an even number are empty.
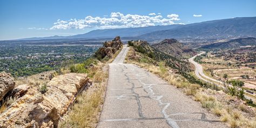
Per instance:
[[[237,49],[245,46],[255,46],[256,38],[238,38],[227,42],[213,43],[202,46],[202,49]]]

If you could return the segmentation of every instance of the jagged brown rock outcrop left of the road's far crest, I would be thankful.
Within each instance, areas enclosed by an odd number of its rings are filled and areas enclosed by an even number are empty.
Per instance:
[[[107,41],[103,44],[102,48],[96,52],[96,57],[103,59],[104,57],[111,58],[114,53],[116,53],[120,48],[122,48],[123,43],[120,40],[120,37],[117,36],[113,41]]]

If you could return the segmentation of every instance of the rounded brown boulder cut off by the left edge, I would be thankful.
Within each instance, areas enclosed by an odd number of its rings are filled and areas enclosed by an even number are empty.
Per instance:
[[[2,100],[8,92],[14,89],[14,86],[15,86],[14,77],[12,77],[10,73],[1,72],[0,73],[0,100]]]

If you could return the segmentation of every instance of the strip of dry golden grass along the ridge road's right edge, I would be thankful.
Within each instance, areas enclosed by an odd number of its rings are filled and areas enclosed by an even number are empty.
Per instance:
[[[134,52],[134,50],[129,51],[130,54],[132,54],[131,52]],[[171,71],[170,68],[162,66],[162,62],[158,63],[160,66],[156,66],[147,63],[140,63],[138,60],[126,58],[126,63],[136,64],[141,68],[155,73],[157,76],[165,79],[170,84],[183,89],[186,95],[192,96],[194,100],[201,103],[202,107],[220,117],[220,121],[226,122],[228,125],[230,125],[230,127],[256,127],[255,111],[251,113],[253,114],[252,117],[248,117],[245,114],[245,112],[250,112],[248,110],[248,106],[242,104],[238,106],[238,109],[236,109],[234,106],[228,105],[225,102],[226,100],[218,100],[215,98],[217,95],[215,90],[206,90],[197,84],[190,84],[184,77],[176,75]],[[225,99],[224,96],[223,98]]]

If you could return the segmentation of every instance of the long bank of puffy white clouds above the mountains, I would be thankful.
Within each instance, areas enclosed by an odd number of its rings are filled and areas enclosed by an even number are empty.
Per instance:
[[[50,30],[55,29],[84,29],[84,28],[136,28],[143,26],[154,26],[154,25],[171,25],[171,24],[182,24],[174,23],[173,21],[179,21],[179,15],[171,14],[167,15],[167,18],[163,18],[161,15],[124,15],[120,12],[112,12],[109,17],[92,17],[87,16],[84,19],[70,19],[63,21],[58,19],[57,22],[53,23]]]

